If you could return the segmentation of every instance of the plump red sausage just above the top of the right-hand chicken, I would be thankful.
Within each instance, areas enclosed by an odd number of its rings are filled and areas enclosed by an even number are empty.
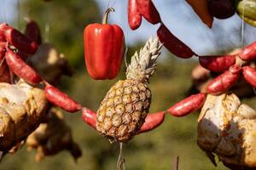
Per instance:
[[[230,89],[239,78],[241,67],[239,65],[232,65],[228,71],[212,79],[207,85],[207,93],[222,94]]]

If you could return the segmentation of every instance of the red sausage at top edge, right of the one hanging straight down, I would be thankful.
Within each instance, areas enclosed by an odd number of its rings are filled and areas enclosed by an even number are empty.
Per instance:
[[[140,14],[148,20],[151,24],[157,24],[161,22],[160,14],[157,9],[154,7],[152,0],[137,0],[137,5],[140,11]]]

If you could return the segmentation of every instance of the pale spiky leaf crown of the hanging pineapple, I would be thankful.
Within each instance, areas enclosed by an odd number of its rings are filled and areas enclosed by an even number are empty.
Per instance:
[[[128,65],[126,70],[126,78],[148,82],[149,77],[156,69],[156,59],[160,56],[160,48],[162,46],[163,44],[158,37],[150,37],[144,47],[141,48],[139,54],[136,52],[131,57],[131,64]]]

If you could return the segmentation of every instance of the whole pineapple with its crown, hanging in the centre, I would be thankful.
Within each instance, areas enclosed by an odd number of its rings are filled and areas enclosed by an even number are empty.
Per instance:
[[[148,114],[151,92],[148,79],[156,69],[156,59],[162,44],[150,38],[145,46],[131,57],[126,80],[113,85],[96,113],[96,129],[111,143],[128,142],[143,126]]]

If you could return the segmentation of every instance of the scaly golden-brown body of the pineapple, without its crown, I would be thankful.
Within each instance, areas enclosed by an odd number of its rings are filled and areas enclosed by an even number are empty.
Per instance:
[[[143,126],[150,102],[146,83],[131,79],[115,83],[97,111],[97,131],[110,142],[128,142]]]

